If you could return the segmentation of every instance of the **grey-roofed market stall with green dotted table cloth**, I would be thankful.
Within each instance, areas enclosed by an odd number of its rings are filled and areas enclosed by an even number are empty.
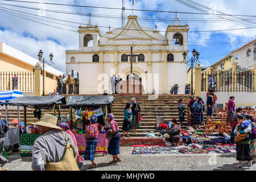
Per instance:
[[[27,122],[27,107],[38,110],[53,109],[53,111],[55,111],[56,106],[58,106],[60,117],[60,105],[64,104],[64,96],[18,97],[10,102],[7,102],[7,105],[24,107],[24,131],[20,135],[20,155],[31,156],[35,139],[39,137],[38,127],[34,126],[34,123],[32,122]]]

